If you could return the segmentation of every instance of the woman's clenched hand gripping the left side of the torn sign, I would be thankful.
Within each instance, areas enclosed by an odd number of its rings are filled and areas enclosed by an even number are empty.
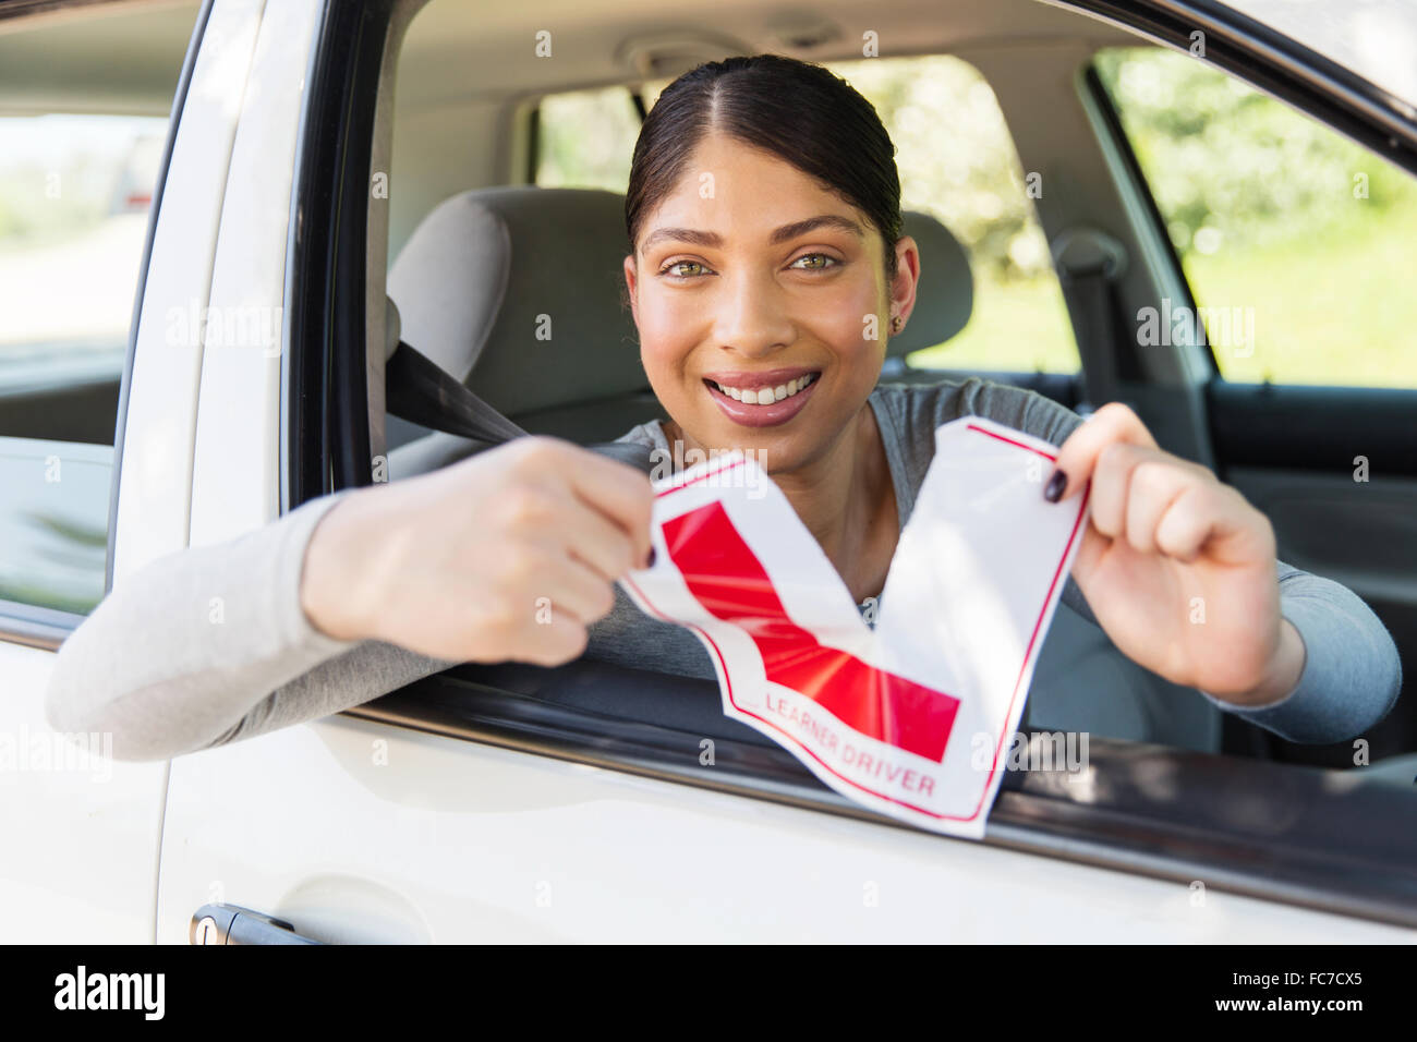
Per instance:
[[[300,604],[337,639],[451,662],[560,665],[646,567],[648,475],[526,437],[432,474],[350,493],[305,551]]]

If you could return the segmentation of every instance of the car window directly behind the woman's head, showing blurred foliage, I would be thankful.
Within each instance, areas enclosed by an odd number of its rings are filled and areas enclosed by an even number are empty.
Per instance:
[[[973,271],[973,313],[925,369],[1077,373],[1081,369],[1027,174],[983,75],[954,57],[829,62],[876,106],[896,143],[901,206],[958,238]],[[643,92],[646,108],[666,82]],[[639,116],[625,88],[551,95],[537,116],[536,183],[625,191]]]

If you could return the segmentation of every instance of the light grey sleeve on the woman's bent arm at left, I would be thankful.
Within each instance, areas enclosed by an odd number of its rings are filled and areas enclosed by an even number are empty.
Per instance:
[[[115,586],[60,648],[50,726],[112,733],[118,760],[167,760],[339,713],[455,665],[336,641],[305,615],[305,547],[344,495],[169,554]]]

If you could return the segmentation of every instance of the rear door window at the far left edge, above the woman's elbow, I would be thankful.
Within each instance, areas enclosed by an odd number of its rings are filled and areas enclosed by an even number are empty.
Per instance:
[[[196,18],[105,7],[0,20],[0,614],[103,597],[119,383]],[[92,61],[96,40],[154,34],[170,68]]]

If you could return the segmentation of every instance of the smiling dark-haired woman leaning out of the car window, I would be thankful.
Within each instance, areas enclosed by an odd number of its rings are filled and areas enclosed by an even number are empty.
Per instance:
[[[920,278],[893,156],[870,103],[816,65],[711,62],[660,95],[635,147],[625,285],[672,418],[622,441],[752,451],[863,601],[884,586],[935,427],[986,415],[1061,445],[1041,495],[1091,481],[1066,597],[1131,659],[1299,741],[1380,720],[1400,666],[1372,611],[1275,561],[1268,520],[1158,449],[1128,408],[1084,424],[978,380],[877,387]],[[119,758],[166,758],[463,661],[588,651],[711,678],[687,631],[615,587],[646,563],[650,503],[645,474],[550,438],[306,503],[128,578],[61,649],[50,722],[112,732]]]

